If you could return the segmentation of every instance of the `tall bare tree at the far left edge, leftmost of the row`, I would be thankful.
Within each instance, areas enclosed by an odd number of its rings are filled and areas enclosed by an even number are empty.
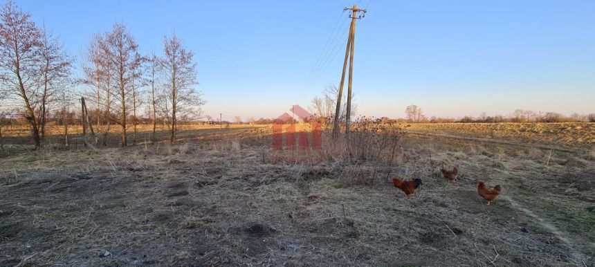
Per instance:
[[[30,20],[30,14],[19,10],[10,0],[3,6],[0,17],[0,78],[3,89],[7,90],[10,104],[24,108],[23,116],[33,133],[35,147],[40,147],[42,96],[36,82],[39,79],[42,33]]]

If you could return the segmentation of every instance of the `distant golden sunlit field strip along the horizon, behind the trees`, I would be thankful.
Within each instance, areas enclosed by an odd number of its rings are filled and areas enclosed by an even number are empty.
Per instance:
[[[461,136],[466,138],[483,138],[491,140],[502,140],[505,142],[534,143],[538,145],[558,145],[561,147],[589,147],[595,145],[595,123],[594,122],[560,122],[560,123],[410,123],[398,124],[399,127],[407,129],[411,133],[430,133],[442,136]],[[96,125],[94,125],[97,131]],[[178,125],[180,131],[192,131],[201,129],[236,129],[236,128],[271,128],[271,125]],[[138,125],[139,140],[149,138],[152,125]],[[64,126],[48,125],[48,135],[53,136],[53,142],[60,142],[64,134]],[[101,125],[100,133],[106,131],[106,125]],[[132,127],[127,129],[129,136],[132,135]],[[157,131],[161,131],[160,137],[167,140],[167,126],[157,125]],[[109,134],[113,138],[119,138],[121,127],[111,125]],[[80,125],[68,126],[68,133],[77,138],[82,134]],[[21,138],[21,142],[27,142],[30,131],[26,126],[6,126],[3,128],[3,136],[6,138]],[[184,139],[184,136],[181,138]],[[7,141],[10,143],[11,141]],[[15,142],[15,140],[12,140]]]

